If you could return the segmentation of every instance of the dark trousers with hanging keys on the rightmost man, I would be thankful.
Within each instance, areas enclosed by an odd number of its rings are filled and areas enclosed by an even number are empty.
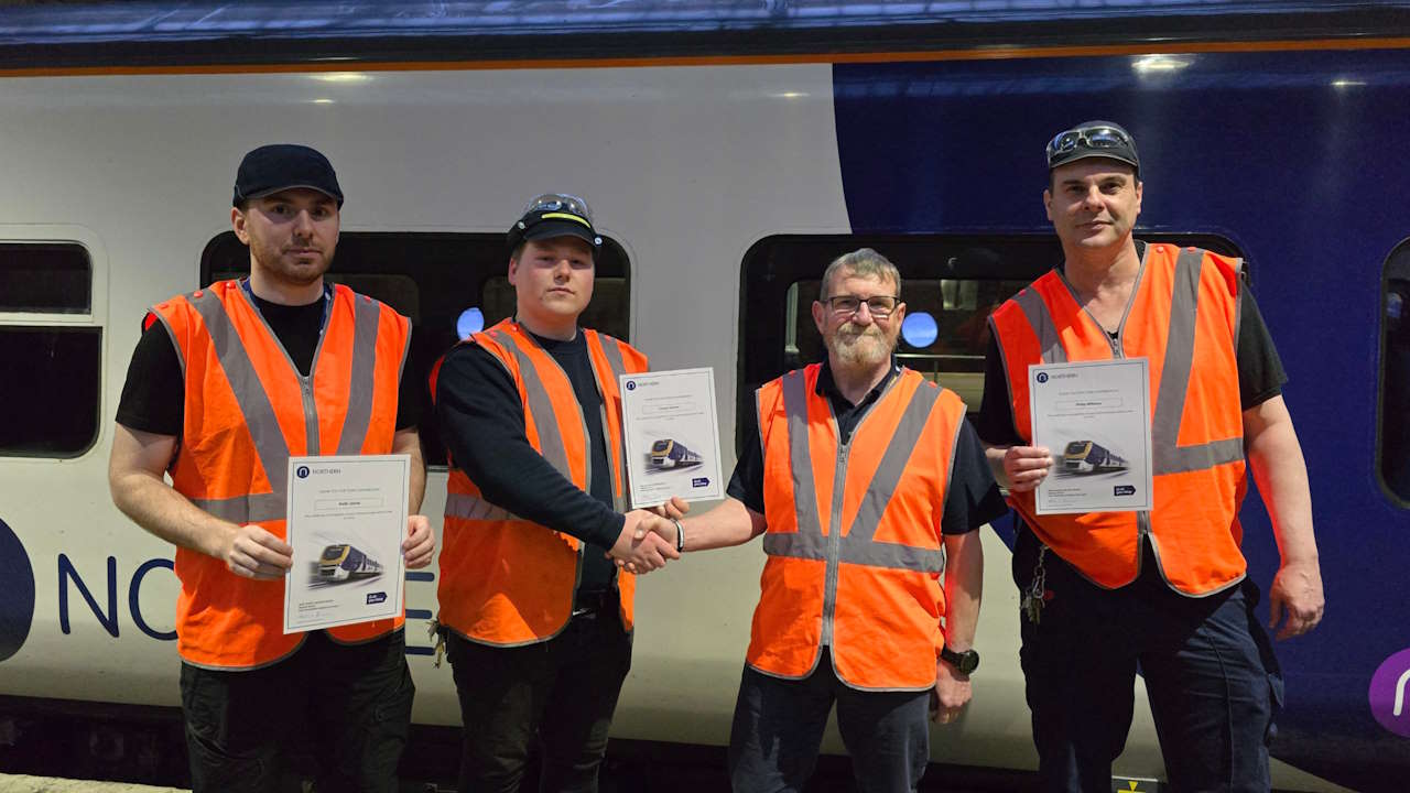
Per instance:
[[[1026,591],[1041,545],[1026,526],[1014,581]],[[1043,792],[1107,793],[1131,730],[1136,670],[1145,676],[1173,793],[1266,792],[1268,745],[1283,679],[1245,580],[1187,597],[1166,584],[1149,542],[1141,576],[1107,590],[1056,553],[1043,555],[1048,598],[1038,624],[1019,614],[1019,653]]]

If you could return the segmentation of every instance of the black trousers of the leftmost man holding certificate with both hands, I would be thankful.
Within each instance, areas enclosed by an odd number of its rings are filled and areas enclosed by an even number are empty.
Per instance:
[[[283,753],[302,744],[317,790],[395,793],[415,694],[402,631],[361,645],[313,631],[292,656],[248,672],[182,663],[192,787],[276,790]]]

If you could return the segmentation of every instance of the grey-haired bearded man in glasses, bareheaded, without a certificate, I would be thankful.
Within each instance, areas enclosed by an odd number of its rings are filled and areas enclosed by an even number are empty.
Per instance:
[[[948,724],[970,700],[977,529],[1004,502],[964,404],[895,364],[900,293],[870,248],[828,265],[812,303],[828,360],[759,389],[759,439],[729,498],[675,526],[688,552],[764,535],[729,742],[736,793],[802,790],[835,703],[859,789],[915,790],[929,703]]]

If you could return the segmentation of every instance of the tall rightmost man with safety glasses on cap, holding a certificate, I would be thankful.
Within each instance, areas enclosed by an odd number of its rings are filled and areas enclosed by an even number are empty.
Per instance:
[[[1282,552],[1269,625],[1286,615],[1277,638],[1304,634],[1324,603],[1282,363],[1239,260],[1132,237],[1129,133],[1063,131],[1048,171],[1063,262],[994,312],[977,422],[1022,518],[1014,580],[1042,790],[1111,789],[1138,666],[1173,790],[1268,790],[1283,683],[1239,550],[1245,454]],[[1114,357],[1151,361],[1155,508],[1038,515],[1055,463],[1032,444],[1028,367]]]

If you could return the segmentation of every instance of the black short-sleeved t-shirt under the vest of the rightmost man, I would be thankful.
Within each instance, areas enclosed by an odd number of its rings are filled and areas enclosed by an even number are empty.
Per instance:
[[[1145,243],[1136,241],[1138,255],[1145,254]],[[1273,337],[1268,333],[1263,315],[1242,282],[1238,291],[1238,339],[1235,360],[1238,361],[1239,406],[1246,411],[1283,392],[1287,373],[1277,357]],[[998,340],[990,336],[988,351],[984,354],[984,398],[980,402],[979,419],[974,422],[979,436],[994,446],[1022,446],[1025,442],[1014,426],[1014,406],[1008,401],[1008,373],[998,354]]]

